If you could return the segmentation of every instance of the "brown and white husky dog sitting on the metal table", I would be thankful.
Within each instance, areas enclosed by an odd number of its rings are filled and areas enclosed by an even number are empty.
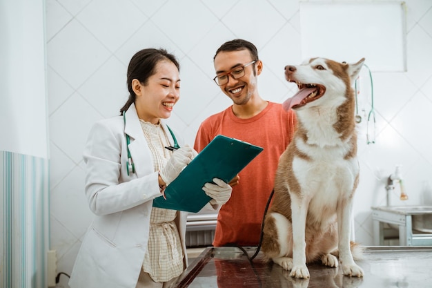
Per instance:
[[[353,258],[362,248],[350,241],[359,180],[351,85],[363,63],[313,58],[285,67],[300,91],[283,106],[295,110],[298,126],[279,159],[262,251],[295,278],[309,278],[306,263],[317,260],[337,267],[337,253],[344,275],[363,276]]]

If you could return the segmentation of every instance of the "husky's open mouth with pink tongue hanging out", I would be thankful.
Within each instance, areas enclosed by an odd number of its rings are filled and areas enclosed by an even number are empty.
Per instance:
[[[288,111],[290,108],[299,108],[310,102],[319,99],[326,93],[326,87],[320,84],[303,84],[299,81],[295,81],[299,88],[299,91],[293,95],[293,97],[286,99],[282,104],[284,109]]]

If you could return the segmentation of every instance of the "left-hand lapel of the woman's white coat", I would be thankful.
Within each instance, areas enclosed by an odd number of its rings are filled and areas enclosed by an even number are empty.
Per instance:
[[[129,151],[135,164],[137,177],[153,173],[152,155],[150,148],[148,148],[146,137],[144,137],[141,124],[139,124],[135,104],[130,105],[128,111],[126,111],[124,133],[130,137]]]

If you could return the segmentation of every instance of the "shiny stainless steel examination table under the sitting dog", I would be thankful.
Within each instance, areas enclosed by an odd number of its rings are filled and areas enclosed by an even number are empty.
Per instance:
[[[256,247],[244,249],[253,256]],[[363,278],[343,276],[340,267],[313,264],[308,265],[311,278],[295,279],[279,265],[264,263],[262,252],[250,262],[236,247],[208,247],[173,287],[432,287],[432,247],[366,247],[364,260],[356,262]]]

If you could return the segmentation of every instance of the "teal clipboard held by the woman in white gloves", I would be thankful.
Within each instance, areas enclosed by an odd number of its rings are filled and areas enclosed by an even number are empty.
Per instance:
[[[197,213],[210,197],[202,190],[219,178],[232,180],[263,150],[262,147],[217,135],[165,189],[166,200],[158,197],[153,207]]]

